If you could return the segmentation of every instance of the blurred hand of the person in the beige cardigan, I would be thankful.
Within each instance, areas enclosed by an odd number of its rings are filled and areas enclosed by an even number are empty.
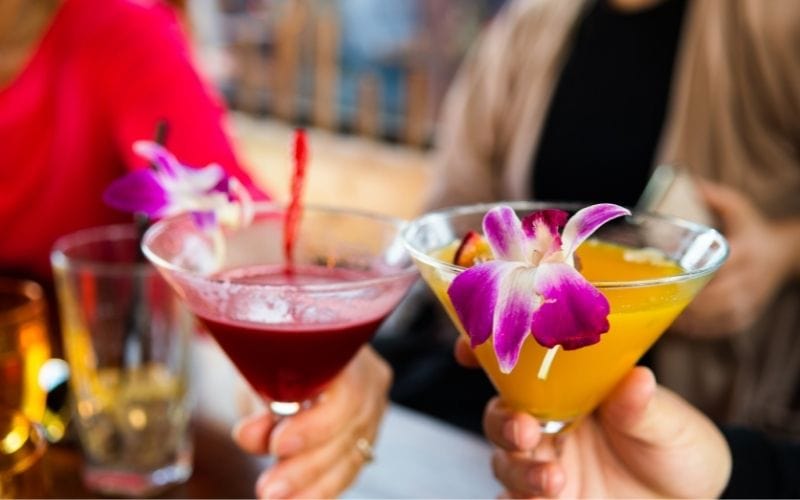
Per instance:
[[[746,330],[761,315],[797,258],[792,228],[765,219],[738,191],[699,185],[730,244],[728,261],[675,321],[673,330],[716,338]]]

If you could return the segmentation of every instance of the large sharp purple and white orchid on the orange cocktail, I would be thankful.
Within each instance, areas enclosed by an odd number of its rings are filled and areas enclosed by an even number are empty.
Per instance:
[[[447,290],[472,346],[494,334],[500,370],[509,373],[529,333],[547,348],[599,342],[609,328],[608,300],[575,270],[573,253],[623,215],[630,211],[610,203],[584,208],[569,220],[562,210],[534,212],[521,222],[508,206],[490,210],[483,232],[495,260],[464,270]]]

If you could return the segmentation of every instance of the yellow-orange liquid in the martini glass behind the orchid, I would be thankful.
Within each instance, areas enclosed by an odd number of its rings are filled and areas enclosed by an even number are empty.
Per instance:
[[[458,243],[434,252],[451,262]],[[624,282],[676,276],[683,270],[651,250],[634,250],[590,240],[577,251],[581,273],[592,282]],[[421,265],[422,276],[466,335],[447,295],[455,273]],[[557,351],[547,378],[538,377],[547,348],[528,336],[509,374],[497,364],[492,339],[475,349],[502,399],[548,422],[570,423],[591,412],[694,298],[708,277],[641,287],[601,288],[610,305],[610,329],[592,346]]]

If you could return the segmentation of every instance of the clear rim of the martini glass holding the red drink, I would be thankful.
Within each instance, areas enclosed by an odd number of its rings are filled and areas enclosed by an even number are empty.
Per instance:
[[[286,204],[279,203],[279,202],[271,202],[271,201],[260,201],[253,204],[253,210],[256,215],[258,214],[269,214],[275,213],[279,214],[282,210],[286,208]],[[408,224],[408,221],[405,221],[399,217],[395,217],[392,215],[381,214],[377,212],[370,212],[368,210],[361,210],[357,208],[346,208],[346,207],[333,207],[333,206],[326,206],[326,205],[316,205],[316,204],[308,204],[304,205],[302,212],[305,213],[306,211],[310,212],[318,212],[318,213],[327,213],[327,214],[338,214],[338,215],[346,215],[346,216],[356,216],[362,219],[368,219],[380,223],[384,223],[388,226],[394,227],[397,230],[397,235],[400,237],[402,242],[402,234],[403,231]],[[193,279],[202,280],[209,284],[214,285],[223,285],[223,284],[231,284],[234,283],[237,286],[245,287],[245,288],[255,288],[259,290],[293,290],[293,291],[302,291],[302,292],[310,292],[310,293],[328,293],[334,291],[342,291],[342,290],[352,290],[358,288],[364,288],[367,286],[375,286],[382,283],[389,283],[395,281],[400,278],[404,277],[411,277],[418,273],[417,267],[414,264],[413,259],[409,259],[409,263],[407,266],[402,268],[398,268],[394,272],[391,272],[386,275],[381,275],[377,277],[370,277],[364,279],[357,279],[357,280],[349,280],[346,282],[341,283],[322,283],[322,284],[300,284],[300,285],[269,285],[269,284],[259,284],[259,283],[241,283],[237,282],[236,280],[225,279],[225,278],[216,278],[213,276],[208,276],[202,274],[197,271],[192,271],[181,267],[177,264],[173,264],[172,262],[167,261],[156,252],[154,252],[151,248],[150,243],[153,239],[158,237],[163,231],[166,231],[170,224],[176,224],[182,220],[190,218],[190,213],[181,213],[171,217],[166,217],[157,221],[155,224],[151,225],[147,231],[145,231],[144,237],[142,238],[142,252],[144,253],[145,257],[156,267],[165,269],[170,272],[177,273],[182,276],[188,276]],[[403,248],[407,250],[407,246],[405,242],[403,242]]]

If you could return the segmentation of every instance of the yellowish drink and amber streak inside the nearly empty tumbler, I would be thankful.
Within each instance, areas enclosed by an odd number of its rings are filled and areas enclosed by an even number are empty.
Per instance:
[[[187,449],[191,416],[185,373],[158,361],[121,367],[121,346],[103,343],[103,331],[90,331],[66,274],[56,269],[56,277],[76,410],[73,422],[87,460],[141,471],[175,463]]]

